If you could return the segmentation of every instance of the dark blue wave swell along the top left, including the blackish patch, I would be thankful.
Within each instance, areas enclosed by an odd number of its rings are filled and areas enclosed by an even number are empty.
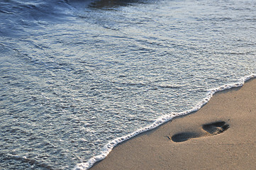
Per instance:
[[[0,1],[0,35],[23,35],[26,28],[45,24],[68,22],[89,8],[114,8],[131,3],[140,3],[140,0],[11,0]],[[79,15],[78,15],[79,16]],[[10,29],[11,28],[11,29]],[[38,28],[39,29],[39,28]]]

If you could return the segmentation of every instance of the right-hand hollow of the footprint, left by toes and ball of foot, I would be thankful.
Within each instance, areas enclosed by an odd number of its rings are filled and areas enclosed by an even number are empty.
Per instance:
[[[203,129],[211,135],[217,135],[229,128],[229,125],[224,121],[218,121],[215,123],[208,123],[203,125]]]

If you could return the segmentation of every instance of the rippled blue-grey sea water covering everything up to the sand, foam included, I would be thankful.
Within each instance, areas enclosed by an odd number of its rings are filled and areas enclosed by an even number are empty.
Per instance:
[[[210,89],[242,85],[256,72],[255,7],[0,1],[1,169],[88,169]]]

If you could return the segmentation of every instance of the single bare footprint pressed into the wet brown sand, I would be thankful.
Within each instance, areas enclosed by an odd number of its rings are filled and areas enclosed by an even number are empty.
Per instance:
[[[172,140],[173,142],[184,142],[191,138],[218,135],[228,130],[229,125],[226,124],[226,122],[224,121],[218,121],[218,122],[202,125],[202,128],[203,130],[206,131],[204,135],[201,135],[196,132],[181,132],[181,133],[177,133],[176,135],[173,135],[172,137],[169,137],[169,139]]]

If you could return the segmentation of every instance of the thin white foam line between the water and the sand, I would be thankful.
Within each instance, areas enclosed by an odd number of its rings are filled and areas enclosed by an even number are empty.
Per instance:
[[[245,81],[247,81],[249,79],[252,79],[254,77],[256,77],[256,74],[250,74],[249,76],[242,77],[240,79],[240,81],[238,81],[235,84],[225,84],[225,85],[220,86],[216,89],[210,89],[208,91],[208,94],[206,95],[206,98],[204,98],[203,101],[199,102],[191,110],[180,112],[180,113],[170,113],[169,115],[163,115],[160,118],[157,118],[157,120],[155,120],[154,123],[152,123],[151,125],[148,125],[145,128],[141,128],[139,130],[136,130],[135,132],[130,133],[129,135],[126,135],[126,136],[123,136],[123,137],[118,137],[115,140],[112,140],[111,142],[108,142],[108,144],[106,144],[104,146],[103,151],[101,152],[101,154],[97,155],[96,157],[92,157],[91,159],[89,159],[88,162],[77,164],[74,167],[74,170],[87,170],[87,169],[91,168],[91,166],[93,166],[96,162],[99,162],[102,159],[106,158],[106,156],[111,152],[113,147],[120,144],[121,142],[129,140],[130,138],[135,137],[136,135],[139,135],[142,132],[146,132],[148,130],[155,129],[158,126],[162,125],[163,123],[166,123],[167,121],[172,120],[172,118],[178,117],[180,115],[187,115],[187,114],[195,112],[195,111],[199,111],[199,109],[202,106],[204,106],[206,103],[208,103],[208,101],[210,101],[211,97],[216,92],[223,91],[223,90],[226,90],[226,89],[231,89],[231,88],[234,88],[234,87],[243,86],[243,84],[245,84]]]

